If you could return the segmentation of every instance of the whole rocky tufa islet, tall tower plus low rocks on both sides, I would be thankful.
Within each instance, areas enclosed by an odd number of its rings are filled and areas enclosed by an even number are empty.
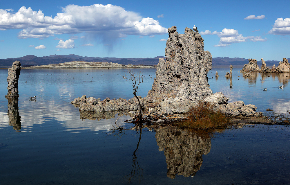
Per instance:
[[[209,88],[207,73],[211,70],[212,56],[204,51],[204,39],[190,28],[184,34],[177,32],[176,26],[168,28],[169,38],[166,42],[165,60],[161,58],[157,64],[156,78],[152,89],[146,97],[139,97],[144,109],[161,109],[166,112],[184,113],[195,103],[213,103],[216,109],[227,116],[262,117],[262,112],[255,112],[255,105],[244,105],[243,101],[227,103],[221,92],[215,94]],[[110,100],[106,98],[75,98],[71,102],[80,111],[119,111],[137,110],[136,98]]]

